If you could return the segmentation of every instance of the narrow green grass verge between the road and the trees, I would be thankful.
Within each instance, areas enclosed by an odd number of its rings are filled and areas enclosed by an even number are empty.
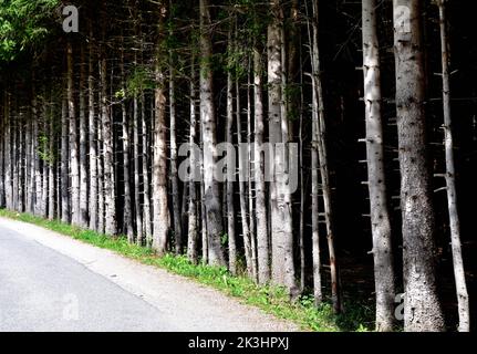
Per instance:
[[[147,248],[129,244],[125,237],[111,238],[91,230],[80,229],[58,220],[45,220],[28,214],[18,214],[0,209],[0,217],[33,223],[73,239],[115,251],[129,259],[137,260],[165,269],[169,272],[187,277],[201,284],[212,287],[243,303],[260,308],[277,317],[290,320],[303,331],[339,332],[370,331],[372,310],[356,302],[345,304],[346,313],[335,316],[330,303],[317,309],[310,295],[302,295],[290,302],[286,291],[277,287],[259,287],[246,277],[232,277],[227,269],[193,264],[185,257],[167,254],[156,257]]]

